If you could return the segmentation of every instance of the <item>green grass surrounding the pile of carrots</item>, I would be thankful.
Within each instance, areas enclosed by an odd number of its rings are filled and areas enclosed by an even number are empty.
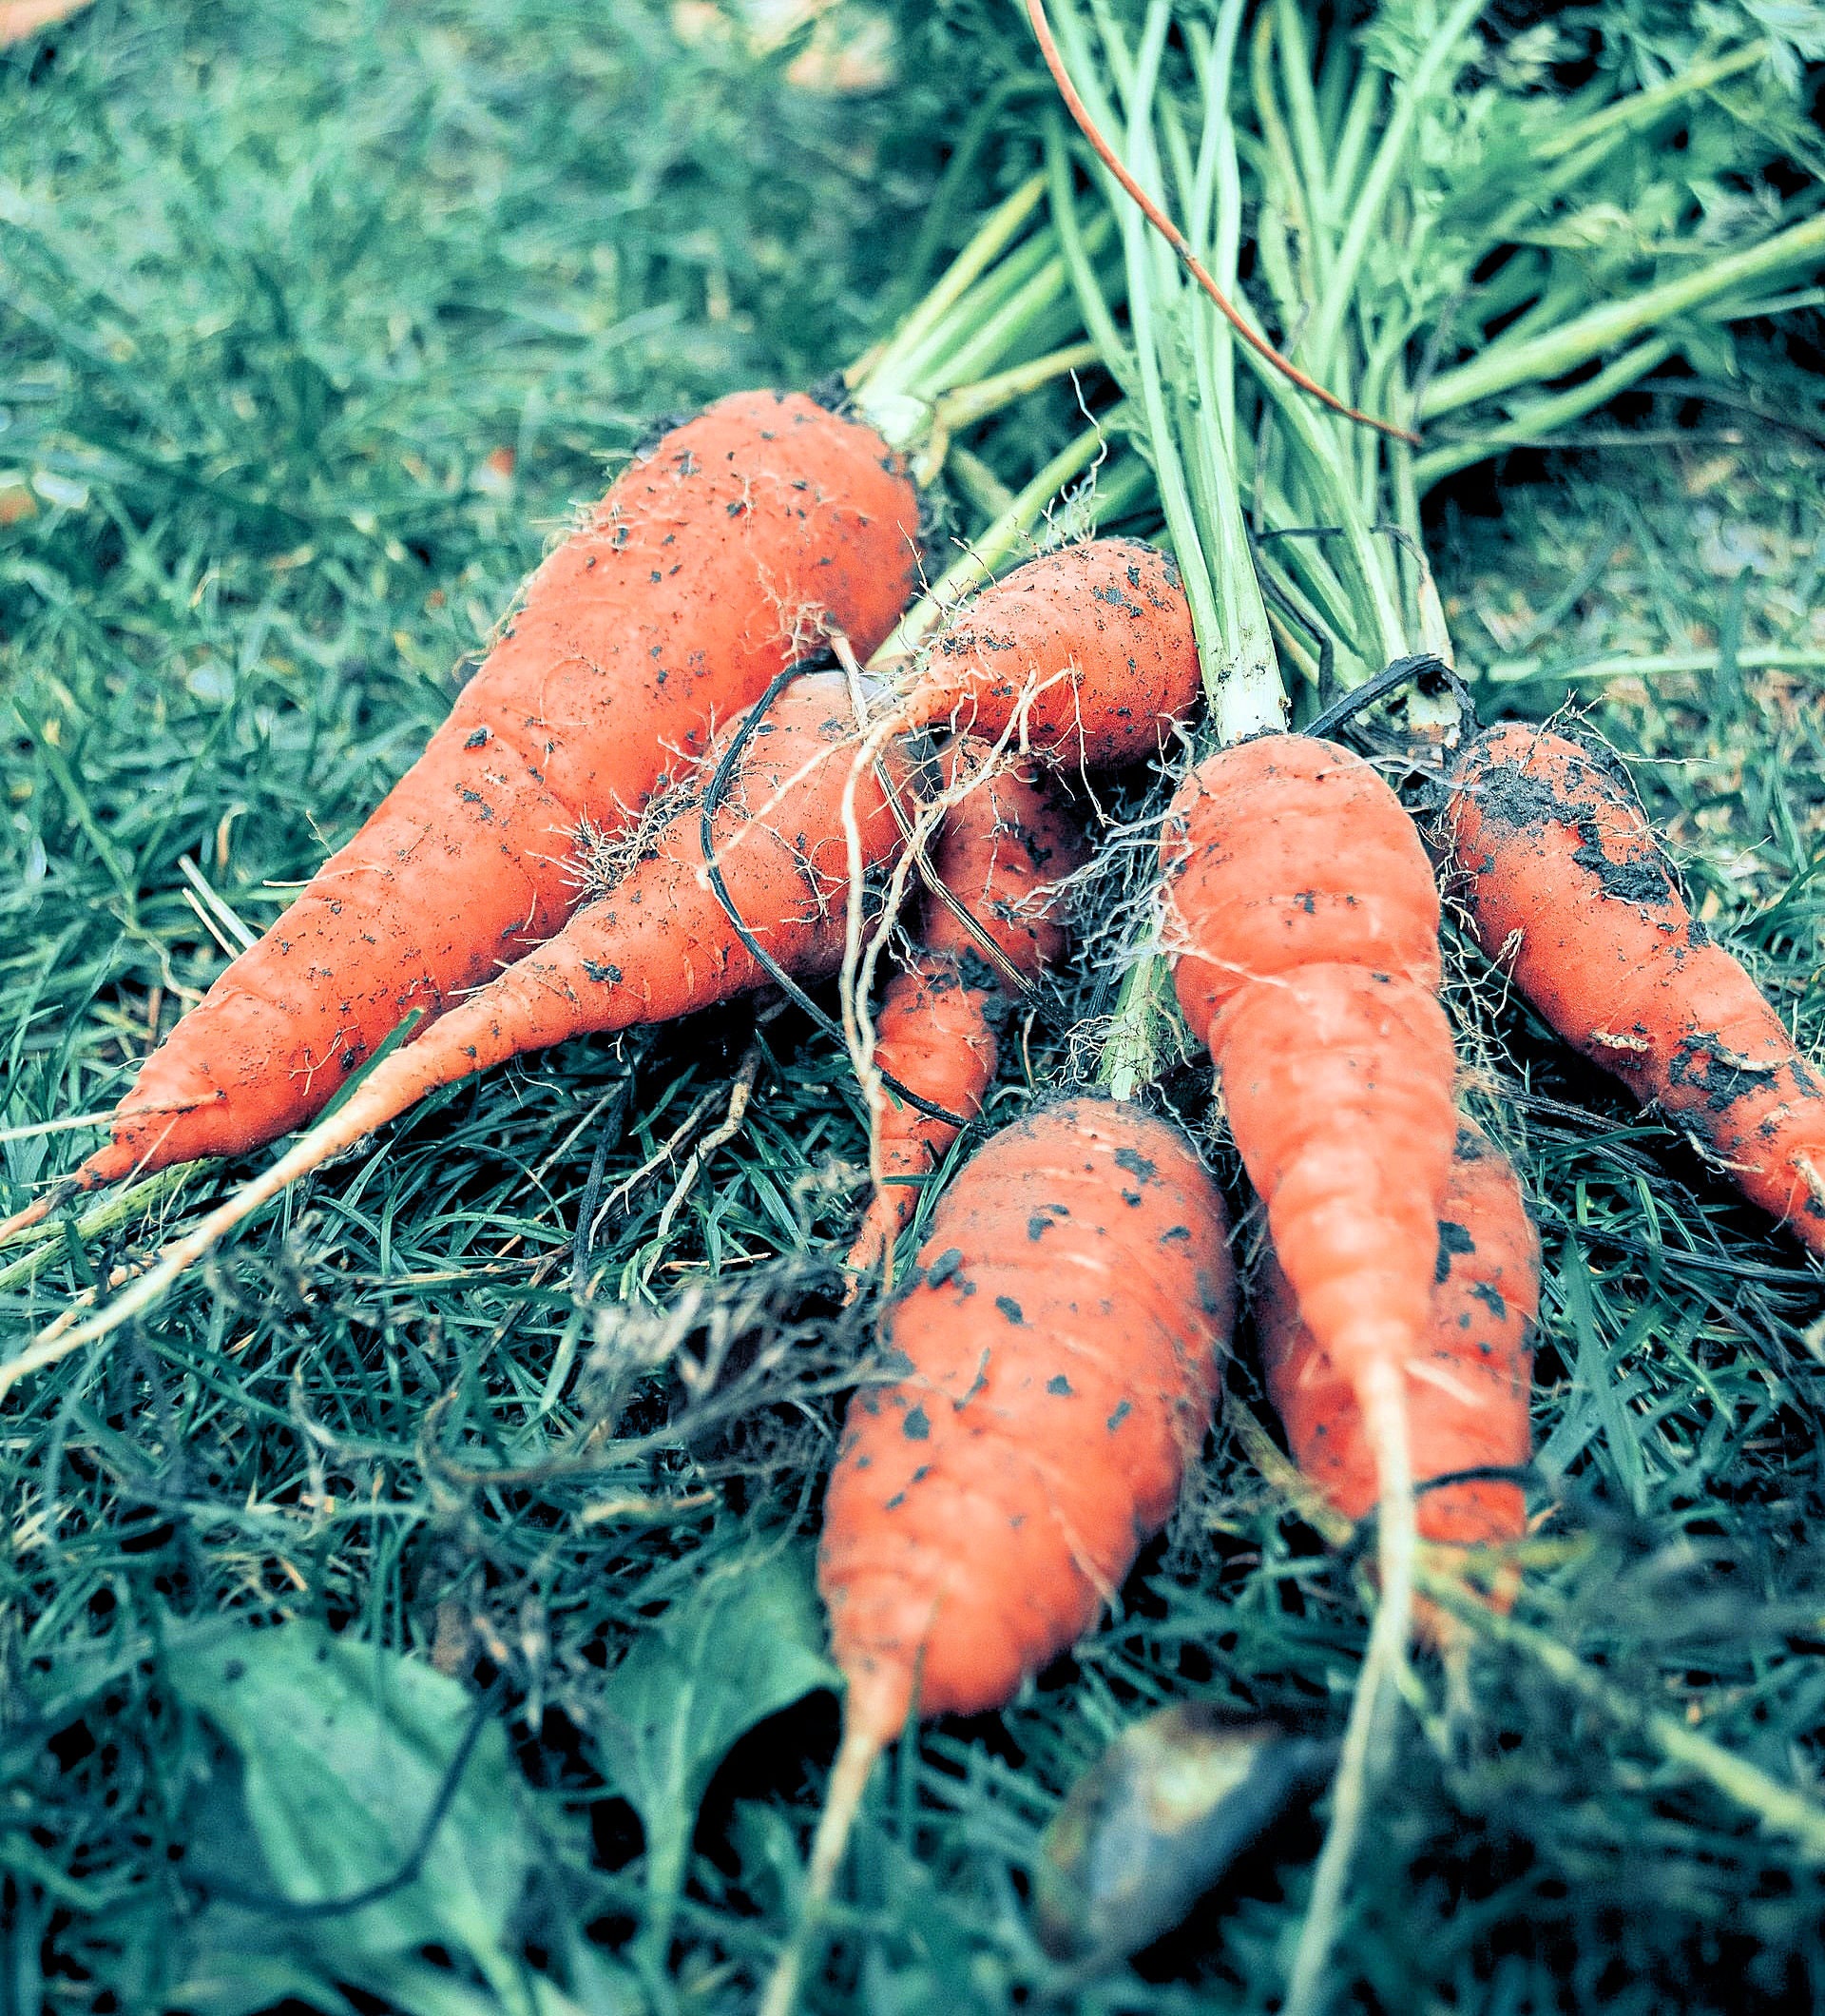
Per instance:
[[[232,931],[205,927],[181,861],[264,927],[415,752],[604,456],[715,391],[814,379],[890,317],[925,256],[933,135],[973,97],[927,62],[906,77],[854,101],[782,93],[733,40],[677,40],[663,10],[558,0],[101,0],[0,58],[0,1125],[117,1097],[226,964]],[[1543,714],[1569,685],[1646,758],[1704,915],[1817,1048],[1821,456],[1793,427],[1799,367],[1752,361],[1781,425],[1638,409],[1638,431],[1664,419],[1678,439],[1517,460],[1499,490],[1464,476],[1434,554],[1460,649],[1491,673],[1479,700]],[[1785,669],[1759,669],[1771,651]],[[1712,669],[1605,671],[1620,655]],[[1523,1635],[1420,1669],[1352,1893],[1356,1998],[1805,2008],[1825,1982],[1815,1863],[1642,1714],[1817,1794],[1819,1272],[1460,972],[1477,1103],[1547,1246],[1539,1530]],[[1035,1030],[1037,1073],[1062,1042]],[[749,1117],[673,1208],[683,1163],[661,1151],[705,1099],[715,1117],[751,1044]],[[1184,1073],[1168,1095],[1197,1117],[1205,1085]],[[1003,1101],[1025,1097],[1015,1075]],[[725,1599],[731,1581],[802,1591],[862,1349],[830,1294],[856,1111],[836,1052],[790,1016],[568,1044],[435,1101],[111,1351],[14,1397],[12,2006],[751,2002],[836,1720],[814,1621]],[[83,1139],[8,1139],[8,1202]],[[608,1191],[653,1167],[578,1294],[594,1163]],[[216,1181],[8,1266],[8,1333]],[[1265,1415],[1247,1341],[1241,1407]],[[1074,1659],[882,1774],[826,2008],[1269,2006],[1311,1851],[1297,1826],[1138,1972],[1066,1988],[1021,1901],[1058,1798],[1146,1708],[1342,1724],[1360,1562],[1321,1546],[1245,1431],[1233,1411]],[[463,1766],[451,1835],[483,1843],[467,1915],[427,1861],[435,1883],[302,1917],[324,1893],[286,1847],[316,1802],[350,1841],[385,1833],[332,1901],[363,1871],[411,1875],[429,1786],[469,1756],[469,1695],[417,1710],[417,1776],[359,1742],[397,1665],[346,1683],[316,1748],[278,1708],[230,1726],[197,1677],[218,1619],[411,1651],[481,1699],[506,1742]],[[637,1697],[630,1651],[681,1619],[695,1653]],[[256,1706],[290,1699],[254,1637],[232,1643],[270,1689]],[[1573,1685],[1567,1655],[1595,1679]],[[659,1752],[699,1768],[667,1776]],[[306,1802],[286,1804],[294,1784]],[[671,1919],[667,1826],[689,1877]],[[489,1889],[487,1865],[512,1881]],[[264,1901],[236,1905],[224,1869]]]

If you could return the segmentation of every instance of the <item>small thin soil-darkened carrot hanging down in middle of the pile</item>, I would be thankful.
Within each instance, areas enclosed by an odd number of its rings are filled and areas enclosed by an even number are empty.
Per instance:
[[[983,744],[961,738],[953,780],[985,760]],[[1064,952],[1058,885],[1082,861],[1084,837],[1033,762],[991,768],[967,790],[945,814],[933,853],[933,875],[951,901],[927,897],[921,946],[882,990],[876,1070],[959,1119],[981,1113],[1015,994]],[[850,1248],[858,1272],[890,1256],[919,1185],[961,1131],[884,1087],[870,1087],[868,1105],[874,1200]]]

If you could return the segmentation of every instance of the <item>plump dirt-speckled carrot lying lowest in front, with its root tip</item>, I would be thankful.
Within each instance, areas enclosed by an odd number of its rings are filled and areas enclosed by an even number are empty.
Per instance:
[[[915,1704],[1005,1706],[1164,1524],[1233,1318],[1223,1200],[1166,1121],[1070,1099],[957,1175],[882,1325],[898,1377],[854,1395],[830,1478],[818,1581],[844,1736],[763,2016],[796,2002],[868,1776]]]

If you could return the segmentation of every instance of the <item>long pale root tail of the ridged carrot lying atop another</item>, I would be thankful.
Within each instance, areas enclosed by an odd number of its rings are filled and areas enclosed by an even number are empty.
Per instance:
[[[1331,1782],[1331,1826],[1311,1875],[1311,1901],[1299,1927],[1281,2016],[1319,2016],[1331,2000],[1336,1984],[1327,1980],[1327,1970],[1344,1915],[1344,1887],[1368,1816],[1370,1784],[1378,1752],[1384,1748],[1386,1714],[1394,1708],[1412,1637],[1418,1528],[1400,1369],[1388,1359],[1372,1365],[1358,1399],[1380,1466],[1376,1560],[1382,1595],[1362,1675],[1356,1681],[1356,1699],[1350,1704],[1344,1754]]]

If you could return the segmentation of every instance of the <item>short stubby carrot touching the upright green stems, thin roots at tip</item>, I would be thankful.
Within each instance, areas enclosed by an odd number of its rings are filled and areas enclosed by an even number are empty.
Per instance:
[[[1199,691],[1170,556],[1092,538],[983,589],[913,661],[876,732],[949,722],[1064,770],[1110,770],[1158,756]]]

